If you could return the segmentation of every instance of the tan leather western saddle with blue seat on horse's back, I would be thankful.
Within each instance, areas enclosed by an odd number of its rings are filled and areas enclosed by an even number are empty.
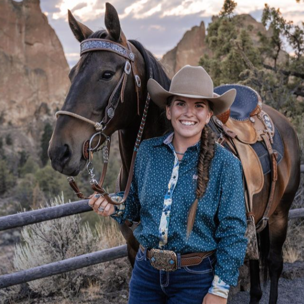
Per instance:
[[[247,217],[253,223],[253,196],[263,189],[264,174],[259,156],[253,148],[258,142],[268,151],[272,182],[263,218],[256,224],[257,233],[267,225],[277,181],[278,152],[273,149],[276,129],[271,117],[263,111],[260,95],[250,87],[226,84],[214,89],[217,94],[235,88],[237,95],[231,108],[213,116],[210,127],[219,134],[218,142],[231,150],[242,162]],[[279,132],[278,132],[279,133]],[[281,138],[280,134],[278,136]],[[280,154],[281,158],[282,155]]]

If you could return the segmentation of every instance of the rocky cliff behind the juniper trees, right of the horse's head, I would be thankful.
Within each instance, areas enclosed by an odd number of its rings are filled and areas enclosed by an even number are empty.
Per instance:
[[[216,18],[217,17],[214,16],[212,21]],[[248,29],[256,45],[259,43],[259,31],[263,34],[271,35],[271,32],[267,31],[262,23],[258,22],[249,14],[236,15],[235,18],[237,18],[237,23],[240,28]],[[186,64],[198,65],[199,59],[203,54],[207,53],[209,56],[212,56],[212,50],[208,48],[205,37],[206,28],[204,21],[202,21],[200,26],[194,26],[188,30],[178,42],[177,46],[164,54],[162,63],[166,67],[170,77]],[[279,60],[283,60],[284,58],[285,52],[281,53]]]

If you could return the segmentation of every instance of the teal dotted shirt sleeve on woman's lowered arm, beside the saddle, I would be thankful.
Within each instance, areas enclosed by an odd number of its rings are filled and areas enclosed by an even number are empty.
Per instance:
[[[238,284],[239,267],[244,263],[247,249],[245,198],[241,162],[228,158],[221,176],[221,196],[218,208],[219,225],[216,230],[217,264],[215,275],[227,289]],[[216,280],[215,276],[215,280]],[[213,285],[220,286],[219,282]],[[227,293],[228,294],[228,293]]]

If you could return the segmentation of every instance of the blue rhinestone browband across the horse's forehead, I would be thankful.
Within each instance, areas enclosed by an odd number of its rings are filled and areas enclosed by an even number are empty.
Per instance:
[[[135,55],[123,45],[100,38],[85,39],[80,43],[80,56],[93,50],[109,50],[115,52],[129,60],[134,61]]]

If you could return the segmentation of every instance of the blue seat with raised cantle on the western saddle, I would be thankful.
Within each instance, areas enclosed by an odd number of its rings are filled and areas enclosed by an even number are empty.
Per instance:
[[[246,120],[249,114],[257,107],[259,98],[255,90],[241,84],[225,84],[214,88],[214,92],[222,95],[230,89],[236,89],[236,98],[230,107],[230,117],[236,120]]]

